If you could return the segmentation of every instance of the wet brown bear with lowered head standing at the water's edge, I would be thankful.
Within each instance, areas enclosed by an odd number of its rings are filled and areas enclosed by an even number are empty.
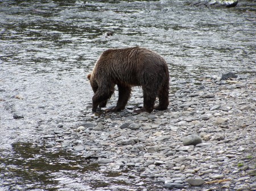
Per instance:
[[[167,109],[169,105],[169,71],[166,61],[152,50],[135,46],[132,48],[105,50],[91,74],[90,80],[94,95],[92,111],[106,107],[106,103],[118,86],[117,106],[109,109],[117,112],[125,109],[132,86],[141,86],[143,90],[143,108],[134,112],[151,113],[156,96],[159,98],[157,110]]]

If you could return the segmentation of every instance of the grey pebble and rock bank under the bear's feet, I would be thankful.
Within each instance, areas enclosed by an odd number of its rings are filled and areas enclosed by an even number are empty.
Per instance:
[[[143,100],[133,96],[129,103]],[[163,190],[256,190],[255,76],[184,82],[170,94],[167,111],[133,109],[88,108],[79,126],[60,125],[42,139],[49,150],[82,155],[138,185],[146,179]]]

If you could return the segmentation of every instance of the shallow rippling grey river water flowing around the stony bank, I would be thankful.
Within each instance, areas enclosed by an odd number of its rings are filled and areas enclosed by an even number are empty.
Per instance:
[[[255,74],[255,36],[255,1],[0,1],[0,190],[134,190],[97,164],[35,146],[44,128],[83,120],[93,95],[86,75],[102,50],[158,52],[175,91],[184,80]]]

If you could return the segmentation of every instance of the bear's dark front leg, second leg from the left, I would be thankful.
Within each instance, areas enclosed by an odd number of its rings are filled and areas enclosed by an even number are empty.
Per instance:
[[[109,112],[118,112],[123,109],[125,109],[125,105],[127,104],[130,95],[131,95],[131,87],[130,86],[123,86],[123,85],[117,85],[118,86],[118,101],[117,106],[113,109],[109,109]]]

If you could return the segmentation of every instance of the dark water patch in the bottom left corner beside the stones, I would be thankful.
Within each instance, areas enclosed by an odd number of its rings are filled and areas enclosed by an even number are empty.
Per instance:
[[[4,190],[127,190],[137,187],[133,186],[133,180],[123,176],[129,169],[104,171],[93,160],[90,162],[80,155],[46,150],[28,142],[13,143],[9,153],[1,150],[0,170]],[[160,189],[158,185],[154,185],[154,188]]]

